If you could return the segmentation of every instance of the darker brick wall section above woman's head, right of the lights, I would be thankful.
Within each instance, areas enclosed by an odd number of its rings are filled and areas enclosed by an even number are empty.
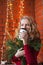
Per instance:
[[[24,15],[35,17],[34,0],[24,1]]]

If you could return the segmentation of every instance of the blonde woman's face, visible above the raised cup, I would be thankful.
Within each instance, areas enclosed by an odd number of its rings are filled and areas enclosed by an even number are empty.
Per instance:
[[[30,33],[31,32],[30,21],[28,19],[22,19],[20,28],[24,28],[28,31],[28,33]]]

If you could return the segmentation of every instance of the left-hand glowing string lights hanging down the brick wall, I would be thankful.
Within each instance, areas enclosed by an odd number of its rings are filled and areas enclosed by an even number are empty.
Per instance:
[[[5,42],[6,42],[6,39],[7,39],[7,34],[9,35],[9,37],[11,38],[11,35],[9,33],[9,15],[10,15],[10,19],[13,21],[13,30],[14,30],[14,18],[13,18],[13,11],[12,11],[12,0],[7,0],[7,14],[6,14],[6,23],[5,23],[5,33],[4,33],[4,39],[3,39],[3,45],[2,45],[2,48],[1,48],[1,60],[3,59],[3,53],[4,53],[4,46],[5,46]]]

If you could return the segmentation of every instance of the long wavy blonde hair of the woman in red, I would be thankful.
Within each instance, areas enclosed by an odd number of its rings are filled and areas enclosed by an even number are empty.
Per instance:
[[[23,17],[20,19],[20,21],[21,21],[22,19],[27,19],[27,20],[29,20],[29,23],[30,23],[30,26],[31,26],[31,32],[30,32],[30,34],[29,34],[30,38],[31,38],[31,39],[38,39],[38,40],[40,40],[40,33],[39,33],[38,29],[37,29],[37,23],[34,21],[34,19],[33,19],[32,17],[30,17],[30,16],[23,16]],[[25,23],[25,22],[24,22],[24,23]],[[18,29],[17,29],[17,31],[16,31],[16,36],[19,35],[20,25],[21,25],[21,22],[19,23]]]

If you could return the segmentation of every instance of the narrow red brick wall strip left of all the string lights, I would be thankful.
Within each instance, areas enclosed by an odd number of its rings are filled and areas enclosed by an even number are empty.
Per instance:
[[[5,18],[6,18],[6,3],[5,0],[0,0],[0,59],[1,59],[1,47],[3,44],[3,33],[5,31]],[[5,1],[6,2],[6,1]]]

